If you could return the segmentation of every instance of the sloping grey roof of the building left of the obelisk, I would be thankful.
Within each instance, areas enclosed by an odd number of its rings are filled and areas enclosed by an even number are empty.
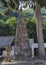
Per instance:
[[[1,36],[0,37],[0,48],[11,45],[15,36]]]

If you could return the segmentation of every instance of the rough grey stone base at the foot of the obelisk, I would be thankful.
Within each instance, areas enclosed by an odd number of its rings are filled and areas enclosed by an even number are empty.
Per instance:
[[[28,61],[32,58],[31,49],[23,49],[19,53],[15,54],[16,61]]]

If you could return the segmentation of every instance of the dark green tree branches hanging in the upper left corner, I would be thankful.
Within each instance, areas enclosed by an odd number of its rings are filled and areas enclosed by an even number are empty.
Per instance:
[[[17,10],[19,8],[19,0],[0,0],[3,7],[6,7],[4,12],[5,15],[9,15],[9,12],[12,10]]]

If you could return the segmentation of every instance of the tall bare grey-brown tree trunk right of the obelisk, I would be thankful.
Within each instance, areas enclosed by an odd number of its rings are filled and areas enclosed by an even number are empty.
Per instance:
[[[44,59],[45,49],[43,43],[43,32],[41,23],[41,7],[36,1],[35,1],[35,14],[36,14],[36,30],[37,30],[39,58]]]

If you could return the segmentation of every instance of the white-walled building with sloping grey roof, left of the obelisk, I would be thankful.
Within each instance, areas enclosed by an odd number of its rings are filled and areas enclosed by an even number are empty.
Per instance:
[[[13,40],[15,36],[1,36],[0,37],[0,57],[6,56],[6,47],[10,46],[12,49]]]

